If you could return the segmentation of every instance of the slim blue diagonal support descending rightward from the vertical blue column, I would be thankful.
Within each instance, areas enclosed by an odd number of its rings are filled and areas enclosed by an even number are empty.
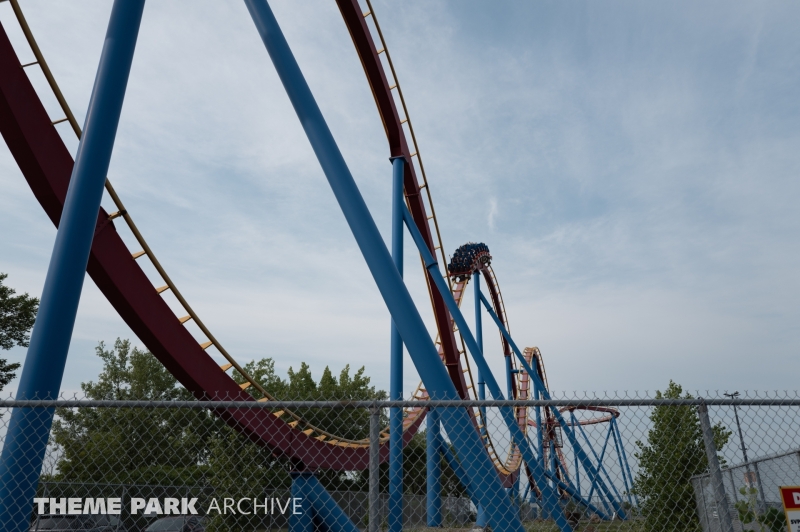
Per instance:
[[[414,223],[414,219],[411,217],[411,213],[408,212],[408,209],[403,211],[403,217],[406,221],[406,226],[411,233],[411,237],[414,239],[414,243],[417,245],[420,255],[422,255],[422,261],[425,264],[425,268],[431,273],[431,279],[433,279],[436,289],[442,295],[442,299],[447,306],[447,310],[450,311],[453,321],[455,321],[456,325],[458,326],[459,332],[464,338],[464,342],[467,344],[467,349],[469,349],[470,353],[472,353],[472,358],[475,360],[475,365],[478,368],[478,371],[481,371],[484,375],[486,386],[489,388],[489,392],[492,394],[494,399],[504,399],[503,392],[500,390],[500,385],[497,384],[497,380],[494,378],[494,375],[489,369],[489,365],[483,356],[483,352],[478,348],[475,337],[472,335],[472,332],[467,325],[467,321],[464,319],[464,315],[461,313],[461,309],[458,308],[458,304],[453,298],[453,294],[450,293],[450,289],[447,286],[447,281],[444,280],[441,272],[439,271],[439,265],[436,262],[436,259],[433,258],[433,255],[426,246],[425,240],[422,238],[422,234],[419,232],[419,229],[417,228],[416,223]],[[542,502],[544,506],[550,508],[551,514],[555,519],[559,529],[571,531],[572,527],[570,527],[569,523],[564,517],[564,513],[561,511],[555,491],[553,491],[550,485],[545,481],[546,472],[542,469],[539,461],[533,454],[533,451],[528,445],[528,440],[525,438],[525,434],[522,432],[522,429],[520,429],[519,425],[517,425],[514,410],[512,408],[500,408],[500,413],[503,416],[503,421],[508,427],[509,432],[511,433],[513,441],[519,447],[523,459],[526,463],[531,464],[531,473],[536,480],[536,484],[542,486]],[[449,429],[447,433],[448,435],[450,434]],[[459,454],[459,456],[468,457],[469,455]],[[469,464],[468,459],[466,460],[466,463]],[[506,497],[506,500],[508,500],[508,497]],[[488,508],[485,509],[488,510]],[[489,524],[491,524],[492,529],[494,529],[494,524],[491,521],[492,519],[490,515]]]

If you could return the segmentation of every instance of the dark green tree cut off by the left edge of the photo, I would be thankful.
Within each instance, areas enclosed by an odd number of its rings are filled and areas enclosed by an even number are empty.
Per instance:
[[[5,286],[8,274],[0,273],[0,349],[8,350],[15,345],[28,347],[30,330],[39,310],[39,300],[28,294],[15,296],[16,291]],[[16,377],[19,364],[9,364],[0,358],[0,390]]]

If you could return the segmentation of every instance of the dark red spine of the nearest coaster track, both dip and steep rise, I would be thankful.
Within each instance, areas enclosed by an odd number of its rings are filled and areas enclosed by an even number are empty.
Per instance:
[[[410,211],[431,252],[435,253],[425,205],[402,130],[400,116],[379,55],[357,0],[337,0],[361,59],[381,120],[390,154],[406,157],[405,194]],[[11,43],[0,25],[0,132],[34,195],[58,226],[73,160],[53,127]],[[178,321],[132,258],[108,213],[98,214],[87,272],[114,309],[159,361],[199,398],[252,400],[223,372]],[[433,281],[427,279],[442,341],[444,363],[456,389],[468,397],[449,313]],[[492,293],[494,299],[496,295]],[[505,346],[508,352],[507,346]],[[507,355],[508,356],[508,355]],[[354,470],[367,466],[366,448],[342,448],[309,437],[265,410],[218,412],[256,442],[296,458],[309,467]],[[409,439],[415,426],[405,432]],[[386,449],[382,449],[382,459]]]

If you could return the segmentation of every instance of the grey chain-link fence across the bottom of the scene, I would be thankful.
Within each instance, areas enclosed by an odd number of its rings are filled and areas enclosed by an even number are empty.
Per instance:
[[[41,468],[3,455],[41,476],[0,510],[31,530],[777,532],[779,488],[800,485],[796,394],[215,399],[0,401],[2,446],[14,408],[54,412]]]

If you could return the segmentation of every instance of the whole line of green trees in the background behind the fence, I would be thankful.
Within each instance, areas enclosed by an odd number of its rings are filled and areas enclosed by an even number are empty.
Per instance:
[[[0,349],[27,346],[39,301],[4,285],[0,273]],[[96,381],[81,384],[88,399],[194,400],[158,360],[129,340],[117,339],[113,347],[96,347],[102,371]],[[0,358],[0,390],[16,375],[18,363]],[[319,381],[301,362],[287,377],[275,371],[272,358],[251,361],[246,371],[276,399],[283,400],[381,400],[387,394],[370,385],[364,367],[351,374],[346,365],[334,375],[325,367]],[[243,379],[234,374],[243,384]],[[260,399],[254,387],[247,391]],[[657,399],[691,398],[670,381]],[[357,409],[304,409],[298,411],[311,424],[348,439],[369,433],[369,414]],[[651,428],[645,442],[634,452],[639,467],[633,492],[640,498],[635,509],[646,530],[701,530],[691,477],[708,470],[697,412],[690,406],[656,406],[649,416]],[[386,424],[385,414],[382,421]],[[714,425],[719,451],[731,432]],[[43,480],[137,485],[209,486],[218,497],[250,496],[264,489],[288,490],[292,465],[269,449],[246,440],[218,417],[193,409],[59,409],[51,443],[57,449],[53,472]],[[406,493],[425,492],[425,435],[414,436],[404,449]],[[720,460],[724,460],[720,456]],[[464,496],[453,471],[443,465],[443,494]],[[319,471],[330,490],[365,491],[368,472]],[[387,466],[381,474],[382,491],[388,482]],[[740,504],[741,506],[741,504]],[[741,511],[740,511],[741,513]],[[241,516],[240,516],[241,517]],[[235,518],[234,518],[235,519]],[[753,518],[755,520],[755,518]],[[222,523],[219,523],[222,525]],[[232,523],[225,523],[229,526]],[[213,523],[212,523],[213,525]],[[213,527],[212,527],[213,528]]]

